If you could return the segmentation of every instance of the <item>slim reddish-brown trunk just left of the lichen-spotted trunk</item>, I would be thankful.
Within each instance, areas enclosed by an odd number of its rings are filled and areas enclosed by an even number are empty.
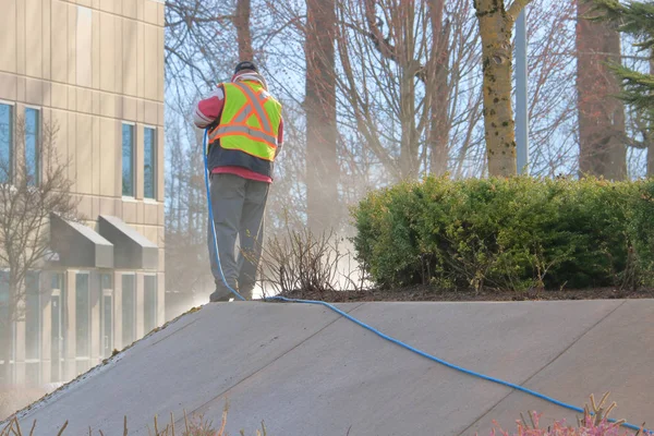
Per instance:
[[[434,86],[429,120],[429,171],[436,175],[447,172],[449,125],[447,68],[449,59],[449,26],[443,26],[445,0],[429,0],[432,21],[432,61]]]

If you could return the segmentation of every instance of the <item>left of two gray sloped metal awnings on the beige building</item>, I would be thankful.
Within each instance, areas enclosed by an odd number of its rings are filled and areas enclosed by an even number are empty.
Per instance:
[[[66,267],[113,268],[113,244],[81,222],[50,214],[50,247]]]

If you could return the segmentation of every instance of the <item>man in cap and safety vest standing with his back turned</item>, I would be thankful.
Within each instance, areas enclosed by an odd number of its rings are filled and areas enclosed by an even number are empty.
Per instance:
[[[221,83],[195,109],[194,123],[208,129],[211,206],[220,264],[228,284],[252,299],[264,242],[264,211],[272,182],[272,164],[281,149],[281,105],[250,61],[240,62],[231,82]],[[237,235],[240,247],[238,256]],[[208,234],[216,291],[211,302],[229,301]]]

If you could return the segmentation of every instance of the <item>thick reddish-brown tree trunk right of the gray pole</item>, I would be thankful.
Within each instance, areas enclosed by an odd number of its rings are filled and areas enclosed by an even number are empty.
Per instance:
[[[627,177],[625,105],[607,61],[620,61],[620,35],[610,22],[591,22],[592,4],[577,4],[577,88],[579,171],[582,175],[622,180]]]

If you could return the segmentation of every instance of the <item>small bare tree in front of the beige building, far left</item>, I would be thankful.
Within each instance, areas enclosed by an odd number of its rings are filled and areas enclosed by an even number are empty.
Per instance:
[[[80,219],[78,201],[71,194],[73,182],[66,177],[69,161],[60,160],[56,148],[59,129],[46,122],[39,135],[31,131],[34,128],[19,117],[11,135],[13,157],[0,160],[0,265],[8,269],[9,290],[0,318],[4,380],[11,371],[11,326],[25,315],[26,279],[43,268],[56,238],[50,234],[50,215]],[[27,135],[33,141],[27,142]]]

